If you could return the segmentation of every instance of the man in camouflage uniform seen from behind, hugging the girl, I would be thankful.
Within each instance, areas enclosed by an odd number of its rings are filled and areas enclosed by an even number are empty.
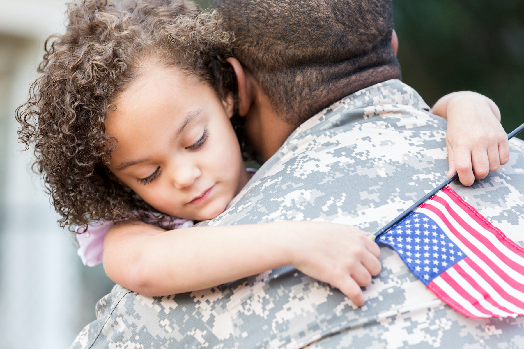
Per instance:
[[[374,233],[444,181],[446,120],[399,80],[390,1],[215,6],[236,35],[239,113],[265,162],[204,224],[323,220]],[[510,160],[497,172],[452,188],[524,247],[524,142],[510,141]],[[381,245],[380,260],[362,307],[291,266],[168,297],[117,285],[72,348],[517,348],[524,341],[522,317],[466,318],[390,247]]]

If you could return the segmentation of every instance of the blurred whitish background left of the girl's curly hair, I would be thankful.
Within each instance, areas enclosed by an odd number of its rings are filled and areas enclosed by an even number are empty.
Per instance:
[[[43,40],[63,31],[65,0],[0,0],[0,348],[67,348],[111,287],[84,267],[19,151],[25,101]]]

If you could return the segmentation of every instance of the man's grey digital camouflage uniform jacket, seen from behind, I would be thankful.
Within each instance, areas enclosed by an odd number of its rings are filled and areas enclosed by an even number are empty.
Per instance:
[[[343,98],[294,131],[205,224],[315,220],[374,233],[445,179],[446,120],[428,109],[398,80]],[[510,148],[498,172],[452,187],[524,246],[524,142]],[[168,297],[117,285],[71,348],[524,348],[524,318],[465,318],[390,247],[381,245],[380,260],[361,308],[291,266]]]

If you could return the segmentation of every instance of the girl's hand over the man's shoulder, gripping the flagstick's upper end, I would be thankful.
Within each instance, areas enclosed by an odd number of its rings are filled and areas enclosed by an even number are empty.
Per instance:
[[[491,99],[474,92],[455,92],[439,99],[431,112],[447,118],[447,177],[457,172],[462,184],[472,185],[508,162],[508,138]]]

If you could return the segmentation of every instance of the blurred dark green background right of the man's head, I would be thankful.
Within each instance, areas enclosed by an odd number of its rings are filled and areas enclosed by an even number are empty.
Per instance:
[[[524,0],[393,0],[393,13],[402,80],[426,103],[475,91],[497,103],[506,132],[524,122]]]

